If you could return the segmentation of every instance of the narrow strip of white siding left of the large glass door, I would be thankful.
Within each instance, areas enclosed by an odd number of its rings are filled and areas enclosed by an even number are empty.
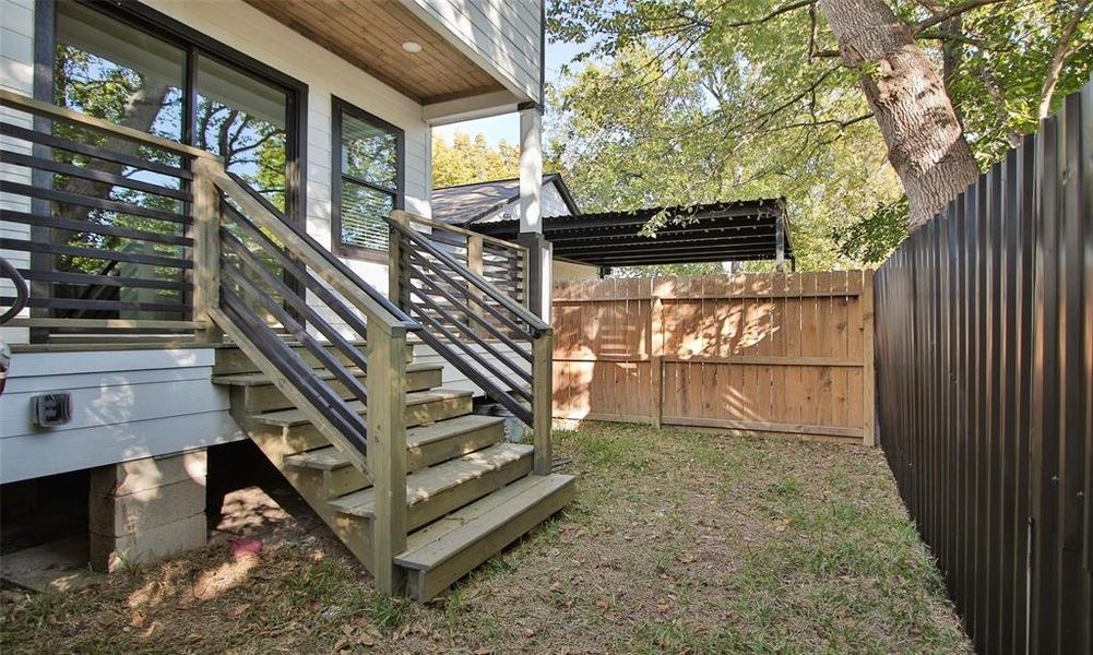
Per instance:
[[[24,95],[34,93],[34,0],[0,0],[0,87]],[[31,117],[8,108],[0,109],[12,122],[31,127]],[[5,145],[31,153],[31,145],[24,141],[3,138]],[[31,173],[10,164],[0,164],[0,178],[22,184],[31,183]],[[0,212],[31,211],[31,201],[10,194],[0,195]],[[0,237],[28,239],[31,226],[0,221]],[[28,253],[0,250],[4,257],[20,268],[30,266]],[[0,295],[12,295],[13,286],[7,279],[0,281]],[[0,339],[9,343],[26,343],[25,328],[0,328]]]

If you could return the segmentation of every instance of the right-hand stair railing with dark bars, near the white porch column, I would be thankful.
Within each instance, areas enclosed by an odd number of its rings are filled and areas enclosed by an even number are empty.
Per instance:
[[[536,472],[546,475],[553,336],[521,304],[527,250],[402,211],[390,225],[390,297],[426,344],[531,428]]]

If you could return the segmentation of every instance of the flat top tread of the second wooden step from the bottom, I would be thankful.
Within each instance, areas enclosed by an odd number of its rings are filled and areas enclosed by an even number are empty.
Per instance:
[[[528,444],[502,443],[450,459],[407,476],[407,506],[427,501],[443,491],[459,487],[485,473],[503,468],[524,457],[530,457],[534,448]],[[373,489],[363,489],[330,501],[330,504],[345,514],[371,518],[373,515]]]

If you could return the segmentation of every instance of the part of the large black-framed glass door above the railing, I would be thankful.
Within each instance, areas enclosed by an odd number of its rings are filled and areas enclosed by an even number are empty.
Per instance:
[[[214,152],[302,220],[303,83],[140,3],[52,7],[57,104]]]

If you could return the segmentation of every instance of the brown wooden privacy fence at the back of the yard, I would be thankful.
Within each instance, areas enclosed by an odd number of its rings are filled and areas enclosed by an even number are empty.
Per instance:
[[[872,273],[554,285],[554,417],[872,443]]]

